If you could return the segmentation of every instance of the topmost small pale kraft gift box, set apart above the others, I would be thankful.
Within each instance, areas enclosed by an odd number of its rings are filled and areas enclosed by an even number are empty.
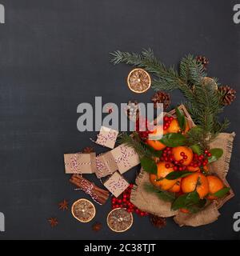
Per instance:
[[[97,144],[101,146],[109,147],[114,149],[115,142],[118,138],[118,130],[113,130],[108,127],[102,126],[98,134]]]

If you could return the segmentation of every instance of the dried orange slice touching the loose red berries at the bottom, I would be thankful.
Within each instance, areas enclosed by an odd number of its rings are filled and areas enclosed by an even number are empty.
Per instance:
[[[106,222],[110,230],[120,233],[130,229],[133,225],[134,217],[133,214],[128,213],[126,209],[117,208],[110,211]]]

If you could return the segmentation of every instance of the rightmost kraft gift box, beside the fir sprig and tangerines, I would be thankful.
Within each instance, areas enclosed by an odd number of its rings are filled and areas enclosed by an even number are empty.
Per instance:
[[[140,163],[138,154],[136,151],[126,144],[122,144],[114,150],[111,150],[111,154],[118,166],[120,174],[124,174],[127,170],[130,170],[134,166],[138,166]]]

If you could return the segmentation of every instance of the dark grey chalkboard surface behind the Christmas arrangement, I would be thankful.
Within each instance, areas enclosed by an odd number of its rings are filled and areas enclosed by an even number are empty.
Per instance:
[[[234,142],[228,180],[235,198],[217,222],[179,228],[172,219],[163,230],[149,218],[134,218],[133,228],[113,234],[106,225],[95,234],[92,223],[79,224],[58,210],[63,198],[85,197],[64,174],[64,153],[93,145],[96,133],[80,133],[77,106],[94,102],[149,102],[153,91],[136,95],[126,87],[129,66],[112,66],[109,52],[151,47],[166,65],[188,53],[210,58],[208,72],[238,89],[239,30],[233,22],[237,1],[0,0],[6,24],[0,25],[0,211],[6,238],[46,239],[215,239],[239,238],[233,214],[240,211],[239,137]],[[182,100],[178,92],[173,102]],[[226,109],[230,131],[239,130],[240,103]],[[98,153],[103,152],[100,146]],[[134,181],[136,170],[126,174]],[[94,175],[93,175],[94,176]],[[101,185],[94,177],[89,177]],[[87,196],[86,196],[87,197]],[[95,220],[105,224],[110,202],[96,206]],[[51,229],[46,222],[58,217]]]

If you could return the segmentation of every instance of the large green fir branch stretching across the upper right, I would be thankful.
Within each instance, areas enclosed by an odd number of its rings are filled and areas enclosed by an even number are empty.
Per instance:
[[[155,56],[153,50],[142,50],[141,54],[121,52],[111,54],[114,64],[126,63],[144,68],[154,75],[152,87],[154,90],[181,90],[186,97],[186,107],[194,122],[202,128],[202,144],[207,144],[220,131],[224,130],[229,122],[219,122],[218,114],[222,112],[221,93],[216,90],[214,81],[204,81],[206,72],[203,65],[187,55],[182,58],[178,71],[173,66],[166,68]],[[203,140],[206,140],[203,142]]]

